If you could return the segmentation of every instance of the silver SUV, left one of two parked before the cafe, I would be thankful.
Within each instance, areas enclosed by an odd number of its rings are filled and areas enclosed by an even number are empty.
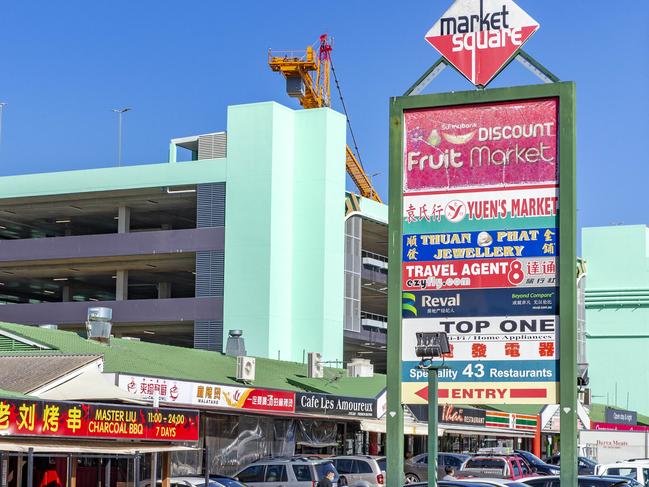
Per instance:
[[[250,487],[313,487],[330,470],[334,472],[333,487],[338,487],[339,475],[331,460],[302,457],[258,460],[235,478]]]

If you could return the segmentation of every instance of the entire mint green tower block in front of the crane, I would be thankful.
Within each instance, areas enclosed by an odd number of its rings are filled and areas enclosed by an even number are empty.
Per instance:
[[[251,355],[342,359],[344,144],[329,109],[228,110],[224,333]]]

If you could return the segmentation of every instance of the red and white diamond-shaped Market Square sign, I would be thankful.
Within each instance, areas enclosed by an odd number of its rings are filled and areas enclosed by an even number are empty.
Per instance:
[[[539,28],[512,0],[456,0],[426,40],[476,86],[486,86]]]

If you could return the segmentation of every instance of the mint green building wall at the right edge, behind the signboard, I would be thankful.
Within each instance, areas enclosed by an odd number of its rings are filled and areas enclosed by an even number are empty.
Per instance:
[[[584,228],[586,330],[594,402],[649,412],[649,228]]]

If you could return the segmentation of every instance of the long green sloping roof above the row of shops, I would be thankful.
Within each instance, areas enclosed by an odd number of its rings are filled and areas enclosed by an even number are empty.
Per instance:
[[[103,355],[104,372],[175,378],[188,381],[214,382],[237,385],[236,357],[192,348],[172,347],[120,338],[110,345],[87,340],[76,333],[0,322],[0,331],[46,345],[59,354]],[[42,352],[0,352],[7,355],[52,355]],[[324,392],[351,397],[375,397],[386,386],[385,375],[371,378],[351,378],[340,369],[325,368],[324,379],[308,379],[307,366],[257,358],[255,387],[292,391]]]

